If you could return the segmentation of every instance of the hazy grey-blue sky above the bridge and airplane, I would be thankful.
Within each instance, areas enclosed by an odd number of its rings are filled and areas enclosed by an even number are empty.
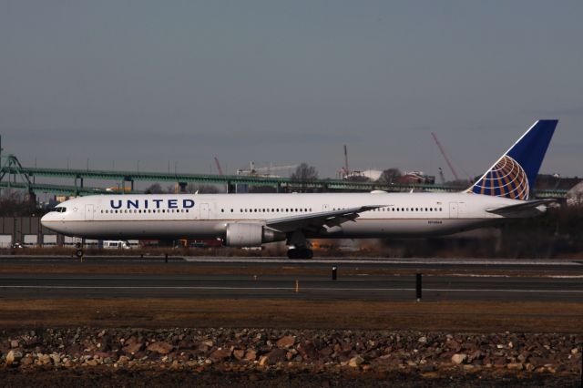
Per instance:
[[[582,176],[583,2],[0,0],[0,135],[26,166],[489,168],[558,118]]]

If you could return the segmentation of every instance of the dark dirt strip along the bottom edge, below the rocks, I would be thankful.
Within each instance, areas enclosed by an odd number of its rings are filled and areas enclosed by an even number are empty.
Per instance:
[[[524,376],[502,375],[496,378],[480,378],[472,375],[458,375],[440,378],[412,376],[408,373],[191,373],[169,371],[128,371],[113,372],[99,370],[55,371],[41,370],[28,373],[6,372],[0,375],[6,388],[35,387],[183,387],[236,386],[255,387],[561,387],[576,388],[578,378],[551,375]]]

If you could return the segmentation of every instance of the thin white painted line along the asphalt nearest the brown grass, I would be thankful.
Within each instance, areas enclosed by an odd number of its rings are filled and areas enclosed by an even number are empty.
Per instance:
[[[197,286],[0,286],[0,289],[36,289],[36,290],[213,290],[213,291],[295,291],[293,287],[197,287]],[[442,292],[566,292],[581,293],[583,290],[472,290],[472,289],[423,289],[424,291]],[[329,288],[329,287],[302,287],[302,291],[415,291],[414,288]]]

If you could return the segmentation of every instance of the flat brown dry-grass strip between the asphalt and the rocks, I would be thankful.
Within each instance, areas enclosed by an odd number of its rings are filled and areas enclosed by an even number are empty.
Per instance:
[[[0,299],[0,328],[5,330],[97,326],[577,333],[581,322],[581,303]]]

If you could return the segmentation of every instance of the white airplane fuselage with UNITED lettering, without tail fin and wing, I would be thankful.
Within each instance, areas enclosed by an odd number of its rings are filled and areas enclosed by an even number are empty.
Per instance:
[[[68,236],[99,240],[224,238],[227,225],[265,223],[335,209],[382,205],[308,238],[423,237],[491,225],[487,212],[521,203],[472,193],[150,194],[70,199],[42,219]]]

